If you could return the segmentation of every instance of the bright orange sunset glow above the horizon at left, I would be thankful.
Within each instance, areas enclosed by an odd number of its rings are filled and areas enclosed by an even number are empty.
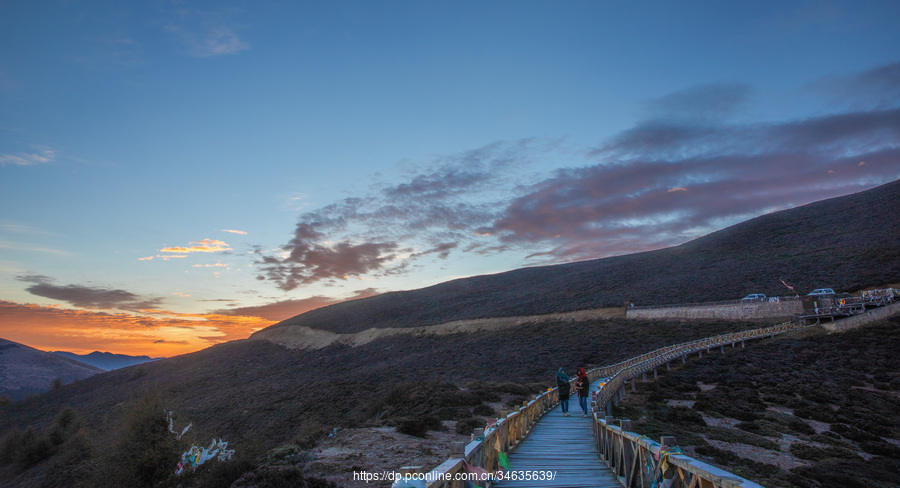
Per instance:
[[[43,351],[93,351],[132,356],[172,357],[222,342],[246,339],[277,323],[260,317],[182,314],[162,310],[146,315],[106,313],[18,304],[0,300],[0,338]]]

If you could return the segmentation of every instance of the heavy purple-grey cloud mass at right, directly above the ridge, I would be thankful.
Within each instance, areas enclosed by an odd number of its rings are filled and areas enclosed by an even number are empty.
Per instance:
[[[514,199],[494,233],[553,246],[534,258],[583,259],[870,188],[900,177],[900,110],[723,127],[655,121],[591,156],[602,162],[559,171]]]

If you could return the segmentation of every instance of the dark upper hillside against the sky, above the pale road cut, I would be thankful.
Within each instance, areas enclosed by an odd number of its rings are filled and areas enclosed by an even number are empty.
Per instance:
[[[313,310],[270,327],[354,333],[483,317],[734,300],[900,283],[900,180],[771,213],[677,247],[463,278]]]

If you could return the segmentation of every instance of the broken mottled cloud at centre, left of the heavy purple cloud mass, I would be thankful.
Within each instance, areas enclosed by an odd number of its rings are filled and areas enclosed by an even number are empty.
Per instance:
[[[552,145],[552,144],[550,144]],[[447,258],[489,225],[530,158],[547,147],[532,140],[495,143],[413,168],[406,181],[376,184],[301,215],[282,253],[257,251],[259,279],[283,290],[360,277],[404,274],[411,260]],[[425,249],[425,250],[420,250]]]

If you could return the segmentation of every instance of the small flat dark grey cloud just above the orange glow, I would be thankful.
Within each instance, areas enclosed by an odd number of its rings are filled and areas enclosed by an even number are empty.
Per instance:
[[[55,285],[46,276],[18,276],[19,281],[34,283],[26,288],[32,295],[60,300],[81,308],[141,310],[156,308],[160,298],[146,298],[125,290],[83,285]]]

